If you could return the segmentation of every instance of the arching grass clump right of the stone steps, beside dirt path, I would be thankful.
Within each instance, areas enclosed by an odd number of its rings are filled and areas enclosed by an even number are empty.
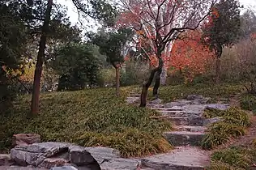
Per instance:
[[[207,129],[207,135],[203,138],[202,147],[212,149],[224,144],[232,138],[245,134],[246,127],[250,126],[248,113],[240,108],[228,108],[228,110],[207,110],[204,113],[207,118],[222,117],[222,120],[211,124]]]

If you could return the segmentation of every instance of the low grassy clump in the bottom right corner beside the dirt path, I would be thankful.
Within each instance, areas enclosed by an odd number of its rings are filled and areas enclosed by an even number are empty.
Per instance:
[[[256,161],[254,147],[228,147],[215,151],[211,155],[211,168],[217,169],[250,169]]]

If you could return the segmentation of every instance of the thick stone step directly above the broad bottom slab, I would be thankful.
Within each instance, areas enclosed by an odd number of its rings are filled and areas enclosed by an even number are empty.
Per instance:
[[[201,146],[204,135],[203,132],[173,131],[165,132],[164,138],[174,147]]]

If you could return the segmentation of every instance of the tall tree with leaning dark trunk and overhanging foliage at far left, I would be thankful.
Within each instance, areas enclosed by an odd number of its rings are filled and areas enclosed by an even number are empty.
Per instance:
[[[65,8],[60,6],[58,3],[53,4],[52,0],[3,0],[2,2],[8,3],[8,6],[11,6],[12,11],[18,14],[21,20],[26,23],[29,35],[32,36],[32,39],[34,41],[40,41],[40,48],[38,50],[39,53],[37,55],[36,61],[31,104],[31,113],[36,114],[39,112],[38,102],[42,67],[45,60],[47,59],[45,58],[45,54],[48,53],[45,49],[49,48],[49,46],[47,47],[46,45],[49,43],[49,40],[53,40],[50,38],[50,36],[53,38],[68,37],[60,36],[61,34],[58,34],[59,28],[60,30],[63,28],[62,23],[66,23],[66,20],[68,20],[66,17],[66,11]],[[111,6],[102,0],[72,0],[72,2],[74,2],[75,6],[78,8],[78,11],[82,11],[84,15],[89,15],[95,19],[101,19],[101,17],[107,19],[109,12],[111,14],[114,12],[114,10],[112,11]],[[105,11],[105,13],[100,15],[100,10],[102,9],[108,9],[109,11]],[[54,29],[56,28],[55,26],[58,26],[58,29]]]

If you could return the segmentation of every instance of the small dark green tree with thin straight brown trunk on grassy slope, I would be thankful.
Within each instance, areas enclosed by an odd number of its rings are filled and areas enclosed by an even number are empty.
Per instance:
[[[89,34],[92,43],[99,46],[100,53],[106,55],[109,62],[116,70],[116,95],[120,96],[120,68],[126,56],[125,45],[132,36],[130,29],[122,28],[117,31]]]

